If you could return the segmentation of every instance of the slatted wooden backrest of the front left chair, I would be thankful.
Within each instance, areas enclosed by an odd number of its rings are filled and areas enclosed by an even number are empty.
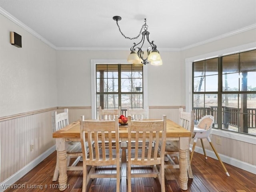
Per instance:
[[[115,117],[115,120],[106,121],[84,120],[84,116],[81,116],[80,137],[83,157],[84,161],[88,162],[87,165],[99,166],[106,165],[106,163],[113,165],[114,162],[119,161],[118,116]],[[86,141],[88,141],[89,157],[86,155]],[[112,149],[113,143],[115,147]]]

